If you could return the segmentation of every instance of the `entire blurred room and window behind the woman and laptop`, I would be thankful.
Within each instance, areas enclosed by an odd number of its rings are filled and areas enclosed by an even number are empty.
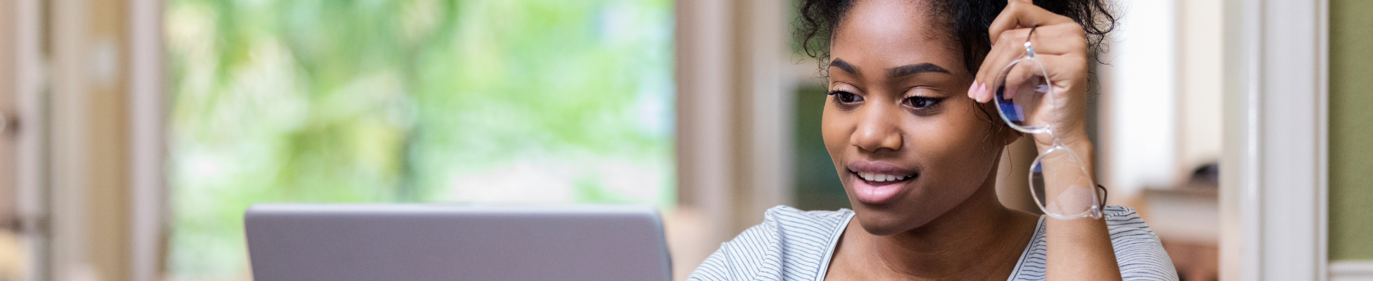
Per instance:
[[[849,207],[795,4],[0,0],[0,281],[251,280],[269,201],[649,204],[684,280],[769,207]],[[1373,4],[1114,4],[1108,204],[1182,280],[1373,280]],[[1035,154],[1006,206],[1039,212]]]

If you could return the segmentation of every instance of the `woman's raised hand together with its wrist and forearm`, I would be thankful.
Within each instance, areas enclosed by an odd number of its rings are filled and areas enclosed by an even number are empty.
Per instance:
[[[1006,64],[1026,55],[1024,42],[1031,27],[1034,36],[1030,42],[1053,89],[1053,95],[1046,99],[1048,104],[1041,104],[1046,108],[1035,110],[1026,117],[1028,122],[1049,125],[1053,132],[1052,136],[1034,134],[1035,145],[1045,152],[1054,145],[1053,138],[1057,137],[1059,144],[1075,151],[1082,159],[1081,163],[1045,159],[1043,177],[1050,185],[1046,189],[1081,188],[1090,192],[1092,186],[1049,181],[1082,177],[1081,173],[1072,171],[1079,167],[1078,164],[1087,167],[1086,177],[1096,177],[1092,171],[1092,141],[1086,134],[1087,38],[1081,25],[1068,16],[1035,7],[1030,0],[1011,0],[989,27],[991,52],[982,62],[968,96],[980,103],[991,101],[994,89],[989,89],[989,85]],[[1013,70],[1008,77],[1011,77],[1008,84],[1017,85],[1016,77],[1023,80],[1027,75]],[[1060,203],[1068,201],[1074,200],[1070,197]],[[1115,247],[1111,244],[1111,233],[1104,218],[1049,218],[1046,232],[1049,251],[1045,280],[1120,280],[1120,266],[1116,265]]]

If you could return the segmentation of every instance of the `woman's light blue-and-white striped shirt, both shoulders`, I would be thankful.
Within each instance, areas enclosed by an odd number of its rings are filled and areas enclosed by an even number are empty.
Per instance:
[[[800,211],[787,206],[769,208],[763,223],[750,228],[724,243],[706,258],[692,281],[769,280],[821,281],[854,211]],[[1134,208],[1105,208],[1107,228],[1115,248],[1116,263],[1124,280],[1178,280],[1168,254],[1159,237],[1149,230]],[[1043,217],[1034,239],[1016,262],[1011,281],[1043,280],[1048,254]]]

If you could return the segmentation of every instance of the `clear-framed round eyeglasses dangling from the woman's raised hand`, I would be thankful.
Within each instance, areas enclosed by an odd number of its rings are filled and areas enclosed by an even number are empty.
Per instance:
[[[1030,36],[1037,27],[1030,29]],[[1059,219],[1101,218],[1107,189],[1092,181],[1078,154],[1053,134],[1050,118],[1054,118],[1054,107],[1060,104],[1056,99],[1063,97],[1054,95],[1049,73],[1035,58],[1030,36],[1026,37],[1026,55],[1006,64],[993,81],[997,112],[1015,130],[1053,137],[1053,145],[1030,166],[1030,193],[1039,210]]]

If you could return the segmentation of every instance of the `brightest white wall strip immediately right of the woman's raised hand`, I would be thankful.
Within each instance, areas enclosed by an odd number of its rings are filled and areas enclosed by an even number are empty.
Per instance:
[[[1123,199],[1171,184],[1177,170],[1177,5],[1120,1],[1103,81],[1101,181]],[[1116,197],[1112,196],[1112,197]],[[1114,201],[1116,203],[1116,201]]]

